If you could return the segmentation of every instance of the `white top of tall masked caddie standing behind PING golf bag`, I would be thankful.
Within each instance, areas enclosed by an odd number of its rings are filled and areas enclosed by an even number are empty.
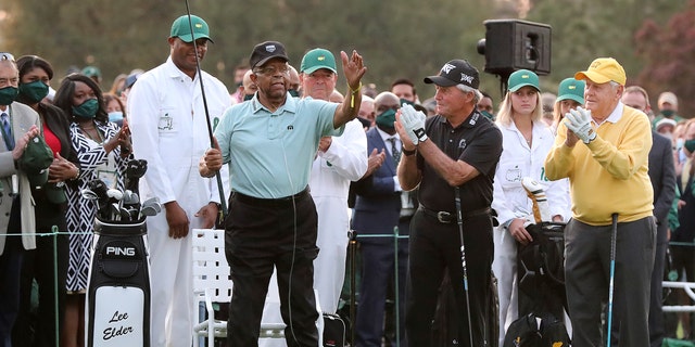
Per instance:
[[[205,72],[202,75],[210,121],[215,126],[231,98],[222,81]],[[198,174],[198,163],[211,147],[199,77],[191,79],[169,56],[142,74],[128,94],[134,154],[148,162],[140,184],[142,200],[156,196],[162,204],[177,201],[198,205],[194,208],[220,201],[215,178]]]

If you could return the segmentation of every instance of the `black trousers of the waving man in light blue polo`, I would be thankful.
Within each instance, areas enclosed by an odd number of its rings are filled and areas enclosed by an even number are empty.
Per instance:
[[[318,346],[314,259],[316,206],[308,192],[294,198],[255,200],[235,194],[226,219],[225,254],[231,268],[227,343],[258,345],[263,307],[277,268],[280,313],[288,346]]]

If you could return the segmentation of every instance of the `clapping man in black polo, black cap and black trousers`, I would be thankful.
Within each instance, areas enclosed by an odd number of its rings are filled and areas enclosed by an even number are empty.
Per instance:
[[[493,257],[492,181],[502,153],[502,133],[477,110],[478,70],[467,61],[444,64],[434,83],[437,115],[428,118],[404,105],[396,130],[403,141],[397,177],[404,190],[419,184],[420,206],[410,221],[406,288],[406,335],[410,346],[430,346],[438,290],[448,271],[458,303],[459,340],[483,346],[485,306]],[[455,194],[459,193],[467,288]],[[466,299],[466,295],[468,299]],[[468,304],[470,307],[467,307]],[[468,322],[470,312],[470,324]],[[470,330],[469,330],[470,326]],[[472,335],[472,338],[471,336]]]

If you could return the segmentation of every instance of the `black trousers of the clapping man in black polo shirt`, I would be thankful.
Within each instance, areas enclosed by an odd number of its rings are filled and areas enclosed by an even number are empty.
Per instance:
[[[468,273],[466,305],[464,269],[462,265],[458,224],[441,223],[435,217],[418,209],[410,221],[409,266],[406,291],[405,329],[409,346],[432,346],[432,318],[437,307],[444,269],[448,269],[458,310],[462,346],[469,346],[472,333],[473,346],[484,345],[485,303],[489,303],[493,259],[492,219],[479,215],[464,220],[464,244]],[[468,330],[468,309],[470,326]]]

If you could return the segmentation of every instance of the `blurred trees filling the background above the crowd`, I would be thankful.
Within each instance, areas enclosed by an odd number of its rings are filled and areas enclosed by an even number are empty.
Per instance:
[[[215,40],[203,68],[228,88],[233,88],[233,67],[248,61],[255,43],[278,40],[288,48],[295,67],[312,48],[334,54],[357,49],[369,68],[365,82],[383,90],[394,79],[407,77],[416,82],[421,100],[434,93],[422,83],[424,76],[437,73],[451,59],[468,59],[481,72],[481,88],[494,94],[500,80],[483,73],[484,56],[476,50],[485,36],[483,21],[520,18],[552,27],[551,74],[541,78],[544,91],[554,92],[560,80],[586,68],[595,57],[612,56],[626,67],[628,83],[640,81],[655,98],[673,86],[684,99],[690,95],[686,79],[675,80],[674,73],[659,73],[664,77],[658,78],[644,74],[661,72],[670,60],[682,62],[672,68],[679,76],[690,72],[688,60],[675,56],[693,51],[687,50],[692,43],[669,21],[673,17],[679,27],[687,27],[692,1],[189,0],[189,4],[193,14],[207,21]],[[8,16],[0,22],[0,51],[48,59],[56,69],[56,81],[71,65],[96,65],[108,88],[121,73],[162,63],[169,26],[186,13],[186,2],[3,0],[2,11]],[[665,23],[668,27],[660,28]],[[668,40],[673,40],[671,50],[683,52],[661,53]],[[661,78],[664,85],[653,85]],[[682,113],[687,116],[685,111],[692,110],[684,103]]]

